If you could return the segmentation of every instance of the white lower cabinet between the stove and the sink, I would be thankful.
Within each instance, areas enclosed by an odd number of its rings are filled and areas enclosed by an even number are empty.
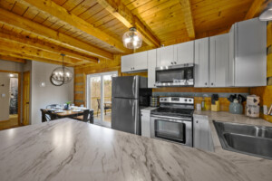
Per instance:
[[[205,151],[214,151],[209,119],[207,116],[194,115],[193,120],[193,145]]]

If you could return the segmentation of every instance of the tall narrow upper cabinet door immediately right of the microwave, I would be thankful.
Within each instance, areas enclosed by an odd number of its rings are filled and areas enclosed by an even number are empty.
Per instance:
[[[195,41],[195,87],[209,87],[209,38]]]

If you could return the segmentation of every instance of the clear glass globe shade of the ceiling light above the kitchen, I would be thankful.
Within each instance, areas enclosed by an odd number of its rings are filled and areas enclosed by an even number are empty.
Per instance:
[[[123,34],[122,43],[128,49],[138,49],[141,47],[142,37],[141,33],[137,32],[136,28],[132,27]]]

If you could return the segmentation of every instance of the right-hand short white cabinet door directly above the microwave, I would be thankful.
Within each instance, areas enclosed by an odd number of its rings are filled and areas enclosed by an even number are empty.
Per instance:
[[[180,43],[174,46],[177,64],[194,63],[194,41]]]

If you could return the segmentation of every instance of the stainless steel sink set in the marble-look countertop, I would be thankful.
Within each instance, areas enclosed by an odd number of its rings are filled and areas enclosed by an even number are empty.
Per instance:
[[[222,148],[272,159],[272,128],[213,120]]]

